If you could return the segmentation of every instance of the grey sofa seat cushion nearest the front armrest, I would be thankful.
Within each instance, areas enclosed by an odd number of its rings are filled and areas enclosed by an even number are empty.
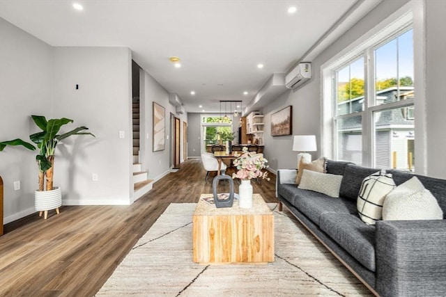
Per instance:
[[[362,223],[353,214],[324,214],[319,227],[358,262],[375,271],[375,226]]]

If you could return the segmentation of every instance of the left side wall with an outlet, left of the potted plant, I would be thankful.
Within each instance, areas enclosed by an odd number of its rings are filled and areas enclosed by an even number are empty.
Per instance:
[[[30,115],[52,112],[52,48],[1,18],[0,45],[0,141],[29,141],[29,135],[38,131]],[[24,147],[6,147],[0,152],[5,223],[35,211],[35,158]],[[19,191],[14,191],[14,181],[21,182]]]

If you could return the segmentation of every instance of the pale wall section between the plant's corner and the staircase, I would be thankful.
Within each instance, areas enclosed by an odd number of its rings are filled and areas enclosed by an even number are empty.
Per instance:
[[[71,136],[58,145],[54,184],[62,188],[63,204],[130,204],[130,49],[54,47],[53,51],[52,117],[75,120],[63,131],[86,126],[96,136]],[[119,138],[119,131],[125,138]],[[98,174],[97,182],[93,173]]]

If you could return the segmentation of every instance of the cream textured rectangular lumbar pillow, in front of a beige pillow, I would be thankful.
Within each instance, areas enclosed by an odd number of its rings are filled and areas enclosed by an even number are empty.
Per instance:
[[[333,198],[339,197],[342,175],[330,175],[304,169],[298,188],[323,193]]]

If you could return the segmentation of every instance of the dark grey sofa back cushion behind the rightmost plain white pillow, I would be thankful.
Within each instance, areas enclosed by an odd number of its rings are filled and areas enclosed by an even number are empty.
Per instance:
[[[387,172],[392,173],[392,177],[397,186],[414,176],[413,173],[403,172],[400,170],[387,170]],[[433,197],[437,199],[438,204],[443,210],[443,218],[446,218],[446,179],[437,179],[434,177],[426,177],[424,175],[415,176],[420,179],[420,182],[422,182],[424,188],[431,191]]]

